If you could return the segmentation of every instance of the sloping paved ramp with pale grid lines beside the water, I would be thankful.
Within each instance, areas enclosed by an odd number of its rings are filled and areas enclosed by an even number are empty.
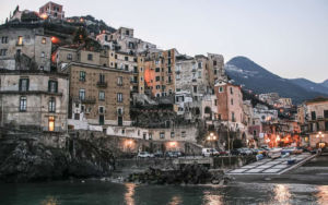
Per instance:
[[[292,165],[288,165],[288,158],[268,158],[232,170],[227,172],[227,174],[281,174],[282,172],[297,166],[302,161],[314,157],[314,155],[303,153],[301,155],[292,155],[292,157],[296,158],[296,162]]]

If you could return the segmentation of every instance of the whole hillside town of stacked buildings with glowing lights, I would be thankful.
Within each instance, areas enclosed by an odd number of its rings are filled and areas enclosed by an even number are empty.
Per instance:
[[[225,74],[220,50],[187,56],[134,32],[67,17],[54,2],[17,7],[0,26],[2,137],[31,133],[63,148],[101,133],[134,154],[328,146],[328,98],[293,105],[278,93],[253,94]]]

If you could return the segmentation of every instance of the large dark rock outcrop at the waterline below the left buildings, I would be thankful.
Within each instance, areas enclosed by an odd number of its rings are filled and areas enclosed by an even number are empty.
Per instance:
[[[109,176],[115,164],[108,150],[91,141],[74,140],[68,149],[55,149],[44,146],[37,138],[0,142],[0,181]]]

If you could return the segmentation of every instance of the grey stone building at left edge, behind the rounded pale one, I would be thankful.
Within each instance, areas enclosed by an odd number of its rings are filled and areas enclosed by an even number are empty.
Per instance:
[[[38,28],[0,27],[0,68],[50,71],[51,37]]]

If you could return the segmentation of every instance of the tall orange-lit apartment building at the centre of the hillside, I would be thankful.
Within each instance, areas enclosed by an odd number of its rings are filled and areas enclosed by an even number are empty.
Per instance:
[[[175,93],[177,56],[179,53],[176,49],[169,49],[153,52],[145,59],[144,79],[152,97],[167,96]]]

